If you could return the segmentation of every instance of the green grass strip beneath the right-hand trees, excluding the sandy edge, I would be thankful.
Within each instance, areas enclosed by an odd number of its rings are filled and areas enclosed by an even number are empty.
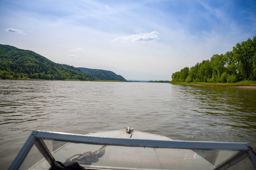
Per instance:
[[[171,84],[184,84],[184,85],[201,85],[201,86],[255,86],[256,87],[256,81],[240,81],[237,83],[207,83],[207,82],[191,82],[191,83],[186,83],[186,82],[177,82]]]

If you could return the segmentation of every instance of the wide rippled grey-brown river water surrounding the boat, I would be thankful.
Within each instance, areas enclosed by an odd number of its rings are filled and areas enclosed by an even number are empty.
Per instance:
[[[250,142],[256,148],[256,89],[0,80],[2,170],[31,130],[87,134],[127,126],[175,140]]]

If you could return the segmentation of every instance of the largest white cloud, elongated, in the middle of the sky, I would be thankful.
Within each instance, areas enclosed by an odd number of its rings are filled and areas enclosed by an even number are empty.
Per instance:
[[[121,41],[121,42],[138,42],[138,41],[154,41],[159,40],[158,32],[153,31],[151,33],[137,33],[132,34],[124,37],[118,37],[114,41]]]

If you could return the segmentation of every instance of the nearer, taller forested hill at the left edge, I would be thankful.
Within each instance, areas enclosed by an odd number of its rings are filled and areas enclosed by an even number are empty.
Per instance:
[[[54,63],[33,51],[2,44],[0,79],[101,80],[74,66]]]

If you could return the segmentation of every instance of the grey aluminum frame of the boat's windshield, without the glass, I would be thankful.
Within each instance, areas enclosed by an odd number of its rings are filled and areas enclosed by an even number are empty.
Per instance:
[[[179,149],[201,149],[201,150],[238,150],[238,154],[229,158],[227,161],[216,167],[214,170],[225,170],[245,157],[249,157],[254,168],[256,169],[256,154],[249,143],[236,142],[209,142],[209,141],[161,141],[161,140],[146,140],[146,139],[120,139],[106,137],[91,137],[88,135],[78,135],[62,132],[50,132],[33,130],[31,135],[21,148],[16,158],[11,163],[8,170],[18,170],[27,156],[29,150],[36,145],[38,150],[43,154],[45,159],[52,165],[54,157],[49,152],[43,139],[54,141],[66,141],[83,144],[100,144],[100,145],[115,145],[115,146],[135,146],[135,147],[150,147],[150,148],[179,148]]]

